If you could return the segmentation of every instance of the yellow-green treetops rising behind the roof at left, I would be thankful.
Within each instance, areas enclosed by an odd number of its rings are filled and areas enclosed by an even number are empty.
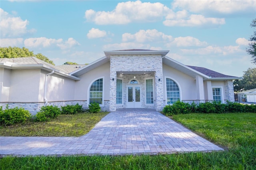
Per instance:
[[[42,61],[55,65],[52,60],[48,59],[41,53],[34,54],[33,51],[22,47],[0,47],[0,58],[19,58],[19,57],[36,57]]]

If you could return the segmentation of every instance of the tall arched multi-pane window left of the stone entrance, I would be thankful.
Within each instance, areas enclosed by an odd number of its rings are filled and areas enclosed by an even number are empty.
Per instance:
[[[90,102],[102,105],[103,79],[94,81],[90,87]]]

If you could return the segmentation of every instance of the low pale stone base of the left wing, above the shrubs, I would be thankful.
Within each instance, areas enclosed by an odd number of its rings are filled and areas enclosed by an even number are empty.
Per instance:
[[[53,106],[66,106],[66,105],[82,105],[83,109],[89,109],[87,107],[87,101],[56,101],[56,102],[48,102],[47,105]],[[32,115],[36,115],[38,111],[40,111],[41,107],[44,106],[44,103],[0,103],[0,106],[3,109],[6,109],[6,105],[8,104],[9,108],[14,107],[23,107],[25,110],[28,110]],[[101,107],[102,111],[109,111],[109,101],[104,101],[104,107]]]

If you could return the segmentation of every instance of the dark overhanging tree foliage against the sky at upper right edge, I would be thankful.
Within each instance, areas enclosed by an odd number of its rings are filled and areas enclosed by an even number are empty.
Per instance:
[[[252,20],[250,24],[252,28],[256,28],[256,19]],[[256,64],[256,31],[254,30],[253,35],[249,39],[249,47],[246,48],[246,52],[252,56],[252,63]]]

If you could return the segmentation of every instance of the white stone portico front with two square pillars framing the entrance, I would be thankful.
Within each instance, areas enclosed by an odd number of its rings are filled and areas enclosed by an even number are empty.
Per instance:
[[[110,111],[116,111],[116,79],[117,72],[154,72],[155,109],[163,108],[163,80],[161,55],[112,55],[110,56]],[[160,79],[160,81],[158,81]],[[125,92],[126,93],[126,92]]]

